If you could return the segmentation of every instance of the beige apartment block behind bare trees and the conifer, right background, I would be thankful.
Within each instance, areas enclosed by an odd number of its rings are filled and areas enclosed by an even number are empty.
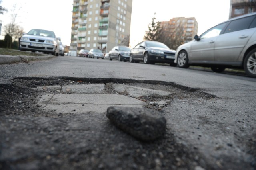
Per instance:
[[[198,30],[198,23],[194,17],[172,18],[169,21],[161,22],[161,26],[164,28],[164,31],[168,32],[168,35],[170,35],[172,39],[184,39],[184,43],[194,39]]]

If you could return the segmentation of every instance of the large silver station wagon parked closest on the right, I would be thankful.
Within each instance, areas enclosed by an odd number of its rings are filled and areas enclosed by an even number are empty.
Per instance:
[[[176,51],[175,63],[181,68],[206,66],[214,72],[244,68],[256,78],[256,12],[222,22]]]

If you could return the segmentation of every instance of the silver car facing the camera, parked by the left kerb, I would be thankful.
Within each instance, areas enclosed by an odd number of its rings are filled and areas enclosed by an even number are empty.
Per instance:
[[[20,38],[21,51],[39,51],[58,56],[60,53],[59,42],[53,31],[31,29]]]

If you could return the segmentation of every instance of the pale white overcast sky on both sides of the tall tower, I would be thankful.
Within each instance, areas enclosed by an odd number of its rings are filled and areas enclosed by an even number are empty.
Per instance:
[[[230,10],[230,0],[133,0],[132,3],[131,47],[142,41],[154,13],[156,21],[195,17],[200,35],[228,20]],[[2,26],[10,23],[14,4],[18,14],[16,23],[25,32],[33,28],[52,30],[61,37],[64,45],[70,45],[73,0],[2,0],[1,6],[9,11],[0,15]]]

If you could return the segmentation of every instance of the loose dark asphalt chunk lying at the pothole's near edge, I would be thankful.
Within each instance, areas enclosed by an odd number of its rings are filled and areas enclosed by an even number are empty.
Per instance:
[[[116,127],[142,141],[155,140],[166,129],[166,119],[152,109],[112,106],[106,116]]]

